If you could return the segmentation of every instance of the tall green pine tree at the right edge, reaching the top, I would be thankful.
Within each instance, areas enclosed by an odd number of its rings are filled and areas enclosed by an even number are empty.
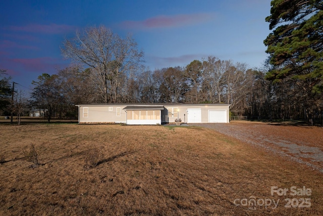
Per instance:
[[[311,119],[323,107],[323,0],[273,0],[271,6],[266,21],[273,31],[264,44],[274,69],[266,78],[302,91],[298,100]]]

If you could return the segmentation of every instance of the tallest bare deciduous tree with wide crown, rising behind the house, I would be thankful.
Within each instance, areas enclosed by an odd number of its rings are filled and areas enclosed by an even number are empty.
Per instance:
[[[89,27],[66,39],[62,54],[84,68],[90,81],[97,85],[103,102],[118,102],[118,90],[127,73],[137,70],[143,52],[137,50],[134,39],[125,39],[104,26]]]

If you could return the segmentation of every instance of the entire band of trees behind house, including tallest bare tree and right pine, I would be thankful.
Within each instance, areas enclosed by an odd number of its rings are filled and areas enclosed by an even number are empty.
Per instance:
[[[272,1],[268,59],[262,68],[214,56],[185,67],[147,70],[131,35],[89,27],[63,41],[72,64],[32,82],[29,106],[48,121],[76,118],[76,104],[225,103],[232,115],[248,119],[294,119],[323,124],[323,1]],[[26,100],[10,103],[10,78],[1,71],[0,110],[22,112]]]

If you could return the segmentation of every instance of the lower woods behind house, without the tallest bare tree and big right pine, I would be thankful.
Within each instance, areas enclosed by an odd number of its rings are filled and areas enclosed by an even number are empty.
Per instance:
[[[303,88],[273,83],[265,78],[266,73],[264,69],[251,69],[243,63],[209,56],[194,60],[185,67],[123,74],[116,81],[118,88],[107,88],[107,103],[225,103],[231,104],[232,115],[248,116],[248,119],[313,119],[321,122],[321,110],[308,101]],[[92,76],[90,68],[83,69],[78,65],[53,75],[43,73],[32,82],[31,98],[19,112],[34,107],[43,110],[48,121],[51,118],[77,118],[75,105],[106,103],[105,92],[98,84],[93,84]],[[9,84],[6,90],[8,113]],[[18,97],[21,95],[16,93],[15,103],[21,105],[22,100]]]

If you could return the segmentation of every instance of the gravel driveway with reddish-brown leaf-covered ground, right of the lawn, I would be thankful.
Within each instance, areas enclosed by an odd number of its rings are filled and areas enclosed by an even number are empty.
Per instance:
[[[288,158],[306,164],[323,174],[323,128],[254,122],[189,124],[214,129]]]

